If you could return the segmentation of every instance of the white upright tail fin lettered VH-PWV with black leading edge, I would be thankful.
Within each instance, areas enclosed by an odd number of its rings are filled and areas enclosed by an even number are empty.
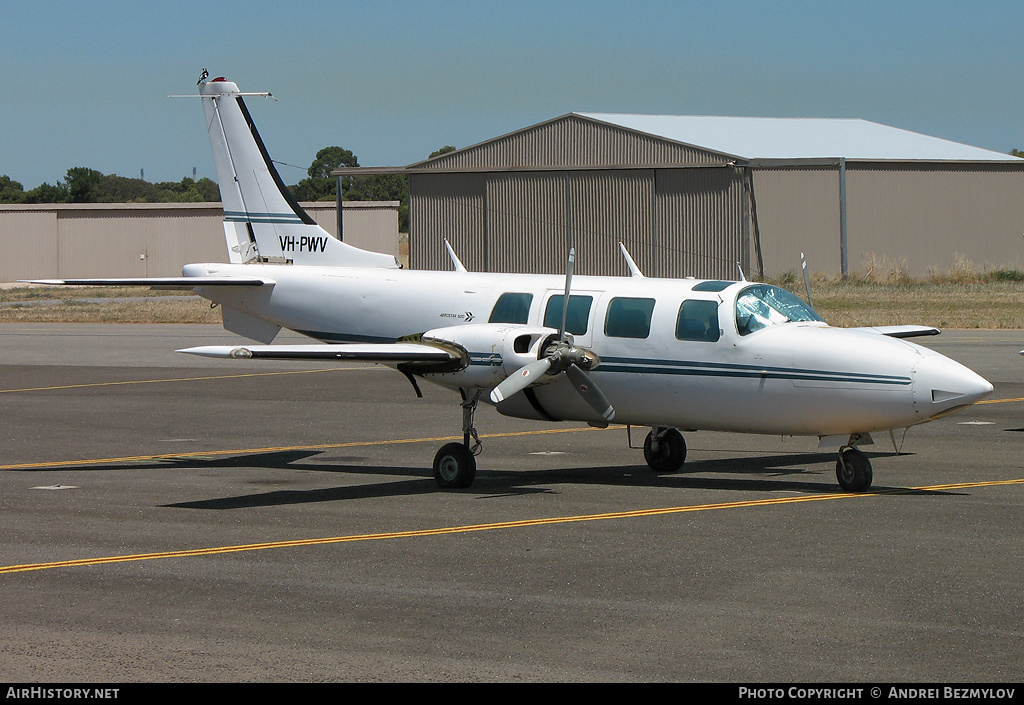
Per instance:
[[[213,161],[224,205],[231,262],[327,266],[399,266],[331,236],[295,202],[260,139],[239,87],[223,78],[200,82]]]

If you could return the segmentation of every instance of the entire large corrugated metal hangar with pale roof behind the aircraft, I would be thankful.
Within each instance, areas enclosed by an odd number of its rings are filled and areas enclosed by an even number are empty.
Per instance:
[[[336,176],[351,174],[343,169]],[[410,265],[736,279],[1024,269],[1024,159],[859,119],[570,113],[407,167]]]

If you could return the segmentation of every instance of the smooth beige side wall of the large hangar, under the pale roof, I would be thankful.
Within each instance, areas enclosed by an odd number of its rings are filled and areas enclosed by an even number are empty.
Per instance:
[[[1024,271],[1024,171],[984,165],[847,165],[851,274],[898,267],[911,277]],[[765,275],[841,271],[838,167],[757,169]]]

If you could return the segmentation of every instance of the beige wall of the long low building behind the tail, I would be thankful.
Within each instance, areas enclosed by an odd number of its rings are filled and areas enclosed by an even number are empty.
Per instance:
[[[302,204],[337,236],[332,202]],[[345,242],[398,255],[398,203],[346,202]],[[0,205],[0,282],[176,277],[227,261],[219,203]]]

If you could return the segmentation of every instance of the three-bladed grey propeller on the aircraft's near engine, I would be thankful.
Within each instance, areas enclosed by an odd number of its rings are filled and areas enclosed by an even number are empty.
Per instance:
[[[562,296],[562,322],[558,329],[558,337],[544,350],[545,357],[520,367],[492,390],[490,401],[495,404],[522,391],[543,374],[555,375],[564,372],[577,392],[601,415],[601,418],[610,421],[615,416],[611,404],[587,374],[588,370],[594,369],[601,363],[600,359],[588,349],[577,347],[565,331],[574,266],[575,250],[569,248],[568,262],[565,266],[565,294]]]

